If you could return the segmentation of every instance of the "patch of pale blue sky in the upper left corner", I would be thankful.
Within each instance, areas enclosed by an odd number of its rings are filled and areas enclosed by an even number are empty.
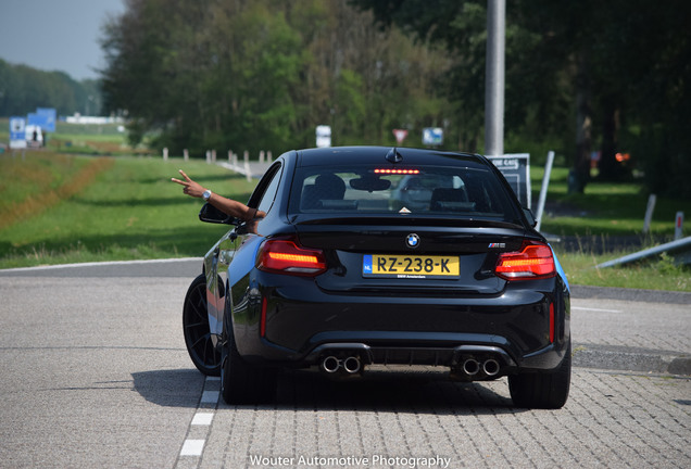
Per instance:
[[[101,27],[124,10],[124,0],[0,0],[0,59],[98,78]]]

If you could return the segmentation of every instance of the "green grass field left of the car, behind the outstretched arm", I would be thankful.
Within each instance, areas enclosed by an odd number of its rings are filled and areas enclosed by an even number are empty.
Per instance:
[[[14,192],[16,206],[24,202],[17,199],[32,198],[32,192],[21,189],[22,180],[30,173],[29,167],[37,172],[54,167],[58,163],[51,160],[53,156],[46,152],[27,154],[21,174],[16,170],[18,162],[1,159],[5,179],[15,180],[0,187],[0,199]],[[73,166],[89,160],[65,159],[64,183],[71,183]],[[0,268],[203,255],[227,227],[199,221],[200,200],[184,195],[180,186],[171,182],[180,167],[202,185],[238,200],[247,200],[254,186],[227,169],[200,162],[113,159],[113,165],[77,194],[50,206],[34,207],[35,213],[26,213],[1,229]],[[3,211],[8,206],[0,207],[0,217]]]

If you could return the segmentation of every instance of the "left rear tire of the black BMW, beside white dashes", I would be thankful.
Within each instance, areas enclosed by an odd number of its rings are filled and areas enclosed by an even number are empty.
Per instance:
[[[266,404],[276,397],[277,370],[249,365],[238,352],[233,326],[224,321],[221,395],[226,404]]]

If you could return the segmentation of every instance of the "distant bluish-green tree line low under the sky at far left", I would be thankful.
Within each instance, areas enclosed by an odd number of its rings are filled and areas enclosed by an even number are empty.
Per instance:
[[[0,116],[24,116],[36,107],[54,107],[58,115],[99,115],[98,80],[76,81],[64,72],[45,72],[0,59]]]

